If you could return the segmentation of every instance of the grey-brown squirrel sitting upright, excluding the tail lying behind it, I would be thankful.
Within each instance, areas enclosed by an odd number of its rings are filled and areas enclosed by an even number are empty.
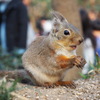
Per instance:
[[[74,82],[66,78],[70,69],[82,68],[86,63],[83,57],[76,55],[83,37],[61,13],[53,11],[52,15],[50,34],[37,37],[23,54],[22,62],[35,85],[75,88]]]

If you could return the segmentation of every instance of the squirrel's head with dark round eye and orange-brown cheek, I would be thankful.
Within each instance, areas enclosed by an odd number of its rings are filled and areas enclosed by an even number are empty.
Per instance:
[[[60,13],[53,11],[53,25],[50,36],[57,48],[64,47],[68,51],[75,50],[83,42],[78,29],[70,24]]]

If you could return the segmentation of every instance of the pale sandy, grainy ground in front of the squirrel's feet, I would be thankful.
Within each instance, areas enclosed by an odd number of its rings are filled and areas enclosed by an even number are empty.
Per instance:
[[[76,89],[44,88],[18,84],[12,100],[100,100],[100,75],[75,81]]]

